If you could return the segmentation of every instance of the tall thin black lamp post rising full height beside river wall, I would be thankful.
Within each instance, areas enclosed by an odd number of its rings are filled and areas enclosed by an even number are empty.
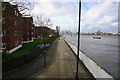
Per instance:
[[[77,46],[77,65],[76,65],[76,80],[79,80],[78,62],[79,62],[79,47],[80,47],[80,18],[81,18],[81,0],[79,0],[79,23],[78,23],[78,46]]]

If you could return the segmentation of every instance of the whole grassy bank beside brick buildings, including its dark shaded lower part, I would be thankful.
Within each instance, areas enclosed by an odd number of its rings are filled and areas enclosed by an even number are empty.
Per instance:
[[[45,38],[42,42],[39,38],[35,38],[33,42],[24,43],[22,47],[11,54],[3,53],[3,71],[7,71],[15,66],[20,66],[32,60],[37,55],[43,53],[43,50],[37,48],[38,44],[46,44],[53,42],[55,38]]]

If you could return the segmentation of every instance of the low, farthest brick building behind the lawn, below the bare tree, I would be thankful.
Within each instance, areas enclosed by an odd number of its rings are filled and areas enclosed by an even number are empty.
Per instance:
[[[39,36],[49,36],[49,35],[53,35],[55,34],[55,30],[50,29],[48,27],[40,27],[40,26],[36,26],[35,27],[35,37],[39,37]]]

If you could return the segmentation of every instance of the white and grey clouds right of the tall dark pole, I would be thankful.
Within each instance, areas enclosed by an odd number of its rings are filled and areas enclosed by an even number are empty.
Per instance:
[[[88,3],[90,4],[90,3]],[[118,6],[113,2],[94,3],[88,10],[82,12],[81,31],[117,31]]]

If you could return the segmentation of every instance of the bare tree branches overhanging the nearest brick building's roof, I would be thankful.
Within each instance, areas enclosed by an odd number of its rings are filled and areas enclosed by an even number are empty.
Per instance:
[[[28,0],[20,1],[20,0],[8,0],[11,4],[18,5],[18,9],[20,13],[23,15],[31,15],[31,11],[34,8],[33,3],[29,2]]]

